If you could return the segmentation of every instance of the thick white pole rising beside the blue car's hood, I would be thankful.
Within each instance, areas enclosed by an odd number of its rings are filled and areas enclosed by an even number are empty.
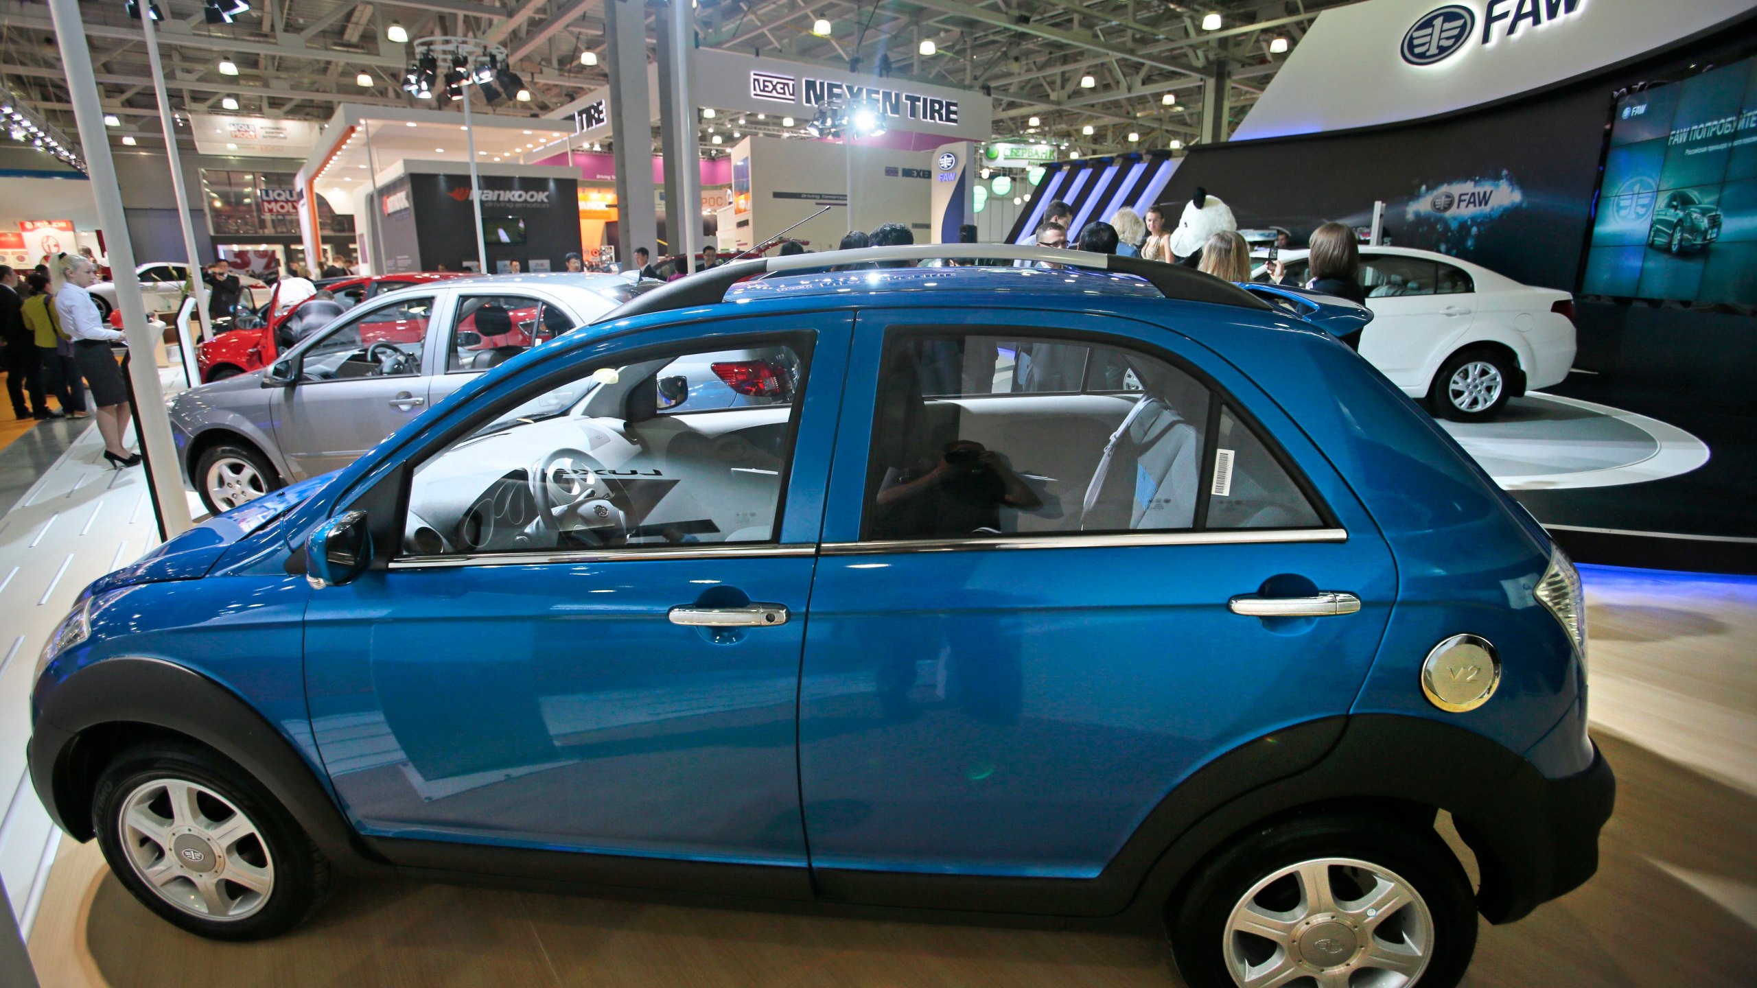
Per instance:
[[[148,7],[148,16],[149,5]],[[97,77],[91,74],[91,51],[86,47],[84,23],[79,19],[79,0],[49,0],[54,18],[54,37],[61,47],[61,67],[67,70],[67,93],[74,102],[74,120],[79,121],[79,144],[86,153],[91,178],[91,197],[98,207],[98,227],[107,236],[111,269],[116,274],[116,306],[121,309],[121,327],[128,350],[128,376],[134,399],[139,403],[141,452],[146,455],[146,483],[153,492],[153,510],[165,538],[190,529],[190,503],[183,496],[183,473],[177,469],[177,448],[170,441],[170,417],[165,415],[165,394],[158,387],[158,366],[153,362],[153,331],[146,325],[146,302],[141,299],[141,280],[134,274],[134,241],[128,239],[128,218],[121,207],[121,186],[116,185],[116,162],[109,153],[109,130],[104,127],[104,105],[98,102]]]

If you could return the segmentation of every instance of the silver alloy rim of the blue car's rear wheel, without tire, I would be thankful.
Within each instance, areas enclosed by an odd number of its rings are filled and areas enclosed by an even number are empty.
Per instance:
[[[1251,886],[1225,926],[1240,988],[1414,984],[1434,955],[1434,916],[1388,868],[1355,858],[1288,865]]]

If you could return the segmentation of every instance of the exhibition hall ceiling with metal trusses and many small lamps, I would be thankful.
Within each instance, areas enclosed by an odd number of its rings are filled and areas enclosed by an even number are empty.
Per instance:
[[[394,39],[427,35],[508,49],[531,102],[478,113],[557,113],[608,81],[604,2],[257,0],[216,25],[206,23],[202,0],[156,5],[176,111],[327,121],[344,102],[445,104],[401,90],[409,44]],[[887,72],[898,84],[986,91],[996,137],[1102,153],[1193,142],[1202,86],[1218,65],[1228,77],[1228,125],[1237,125],[1318,12],[1339,2],[696,0],[694,12],[703,47],[835,70],[856,62],[857,72]],[[163,137],[139,21],[123,0],[81,4],[81,14],[104,109],[116,121],[112,142],[156,144]],[[0,72],[35,111],[76,132],[47,11],[14,5],[0,12]]]

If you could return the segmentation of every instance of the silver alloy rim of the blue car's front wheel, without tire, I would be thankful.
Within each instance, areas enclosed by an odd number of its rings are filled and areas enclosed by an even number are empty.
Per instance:
[[[257,825],[220,793],[155,779],[123,800],[123,853],[170,905],[202,919],[253,916],[274,893],[274,860]]]

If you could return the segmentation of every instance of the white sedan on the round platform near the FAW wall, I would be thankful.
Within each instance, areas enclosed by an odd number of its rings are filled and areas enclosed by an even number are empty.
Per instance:
[[[1286,285],[1305,285],[1304,250],[1281,251]],[[1265,280],[1262,267],[1256,278]],[[1492,418],[1509,397],[1558,383],[1574,364],[1574,297],[1444,253],[1362,246],[1372,322],[1360,355],[1435,415]]]

